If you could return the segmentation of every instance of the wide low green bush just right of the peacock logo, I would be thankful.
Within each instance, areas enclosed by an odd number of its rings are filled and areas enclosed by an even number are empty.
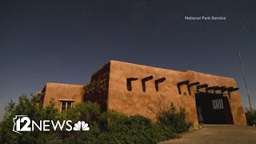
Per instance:
[[[100,143],[156,143],[149,118],[140,115],[125,116],[113,111],[102,114]],[[97,143],[97,142],[96,142]]]

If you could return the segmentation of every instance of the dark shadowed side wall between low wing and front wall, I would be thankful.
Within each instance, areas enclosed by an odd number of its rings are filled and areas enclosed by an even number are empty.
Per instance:
[[[96,71],[85,87],[84,102],[98,102],[101,110],[107,110],[107,97],[110,79],[110,62]]]

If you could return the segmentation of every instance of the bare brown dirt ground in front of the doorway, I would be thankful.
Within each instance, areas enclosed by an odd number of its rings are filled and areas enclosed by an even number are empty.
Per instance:
[[[201,129],[182,134],[182,138],[160,144],[256,144],[256,127],[234,125],[203,125]]]

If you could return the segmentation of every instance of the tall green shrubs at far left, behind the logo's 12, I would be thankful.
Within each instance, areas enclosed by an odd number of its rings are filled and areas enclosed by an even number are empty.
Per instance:
[[[16,105],[11,101],[6,106],[6,114],[0,127],[0,143],[44,143],[51,136],[51,132],[41,132],[35,130],[33,133],[16,134],[13,130],[13,118],[15,115],[28,115],[29,118],[39,121],[40,119],[55,119],[58,111],[54,108],[54,103],[51,102],[50,106],[45,109],[38,106],[36,97],[32,96],[27,98],[25,94],[18,99]]]

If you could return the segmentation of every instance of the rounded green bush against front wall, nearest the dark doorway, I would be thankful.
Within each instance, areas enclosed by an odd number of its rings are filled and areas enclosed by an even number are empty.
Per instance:
[[[181,108],[179,111],[176,110],[176,107],[172,103],[168,110],[162,110],[158,113],[158,122],[174,132],[182,133],[190,129],[192,124],[186,122],[186,111],[184,108]]]

